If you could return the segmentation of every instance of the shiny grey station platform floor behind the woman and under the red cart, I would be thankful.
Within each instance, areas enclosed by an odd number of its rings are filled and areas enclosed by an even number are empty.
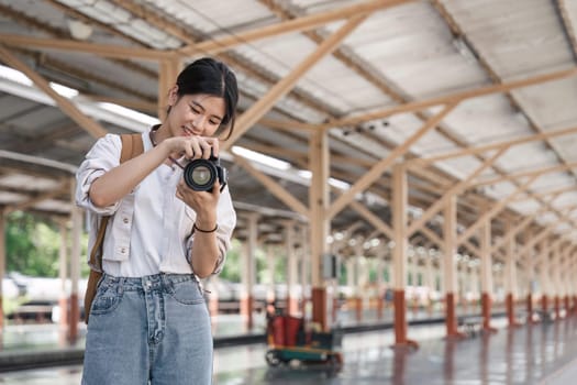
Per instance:
[[[240,322],[241,321],[241,322]],[[242,319],[230,317],[221,326],[230,334],[214,336],[214,384],[573,384],[577,378],[577,316],[507,327],[506,318],[491,320],[496,332],[480,332],[474,337],[445,339],[442,317],[414,315],[409,320],[408,337],[417,340],[419,349],[395,348],[395,332],[390,322],[366,322],[343,326],[344,364],[341,370],[314,366],[269,367],[264,359],[267,350],[263,324],[247,333],[253,340],[234,340],[233,329]],[[37,326],[38,328],[43,326]],[[10,341],[1,355],[49,351],[53,341],[48,328],[29,334],[27,348]],[[52,328],[55,328],[53,326]],[[218,330],[218,329],[217,329]],[[56,333],[57,334],[57,333]],[[40,336],[44,336],[41,348]],[[4,340],[7,333],[4,333]],[[229,341],[226,342],[226,340]],[[260,340],[259,340],[260,339]],[[220,341],[220,342],[219,342]],[[82,350],[77,341],[70,350]],[[64,351],[60,348],[56,351]],[[32,355],[31,355],[32,356]],[[81,366],[78,363],[59,364],[0,373],[0,383],[9,385],[71,385],[79,384]]]

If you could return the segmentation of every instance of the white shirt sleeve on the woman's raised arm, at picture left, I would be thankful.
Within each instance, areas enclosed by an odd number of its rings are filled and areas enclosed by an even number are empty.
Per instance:
[[[101,216],[111,216],[120,202],[107,207],[97,207],[90,200],[88,193],[92,183],[120,164],[122,142],[119,135],[107,134],[99,139],[86,154],[85,161],[76,173],[76,205]]]

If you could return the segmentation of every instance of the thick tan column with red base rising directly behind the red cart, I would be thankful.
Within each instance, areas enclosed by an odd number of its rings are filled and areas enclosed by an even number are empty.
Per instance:
[[[321,274],[322,256],[329,252],[330,232],[330,220],[326,215],[329,208],[329,138],[325,131],[319,130],[311,134],[309,167],[312,172],[309,190],[312,320],[319,323],[322,330],[326,330],[326,285]]]

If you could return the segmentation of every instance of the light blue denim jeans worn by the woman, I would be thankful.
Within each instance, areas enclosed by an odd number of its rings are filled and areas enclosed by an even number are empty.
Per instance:
[[[192,275],[102,276],[88,322],[84,385],[211,381],[210,317]]]

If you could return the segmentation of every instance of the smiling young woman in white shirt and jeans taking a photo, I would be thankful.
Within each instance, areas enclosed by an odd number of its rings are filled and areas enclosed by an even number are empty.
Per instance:
[[[236,78],[198,59],[178,76],[144,153],[120,164],[122,143],[97,141],[77,173],[77,204],[93,232],[108,222],[103,276],[91,306],[82,384],[210,384],[212,334],[199,278],[223,266],[236,223],[228,188],[195,191],[173,160],[219,155],[232,132]]]

